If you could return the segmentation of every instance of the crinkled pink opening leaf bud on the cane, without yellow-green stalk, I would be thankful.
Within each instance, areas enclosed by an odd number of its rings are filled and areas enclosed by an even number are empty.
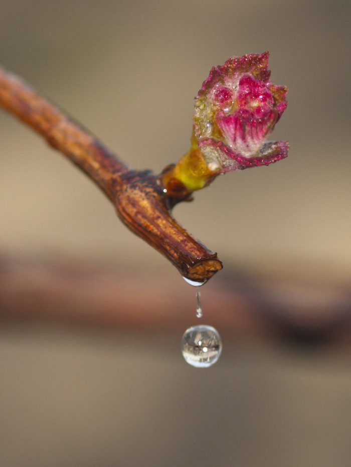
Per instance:
[[[268,52],[212,68],[195,102],[194,136],[209,168],[228,172],[287,156],[288,143],[265,143],[286,109],[285,86],[270,83]]]

